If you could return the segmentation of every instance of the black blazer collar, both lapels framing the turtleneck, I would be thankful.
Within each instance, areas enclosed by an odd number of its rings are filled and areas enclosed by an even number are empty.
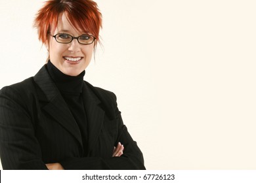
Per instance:
[[[79,127],[75,122],[68,105],[49,75],[46,65],[44,65],[34,76],[34,81],[41,90],[37,93],[39,101],[45,104],[42,105],[43,110],[50,114],[60,125],[74,135],[75,139],[77,139],[81,147],[83,147]],[[93,88],[88,86],[87,82],[84,82],[83,84],[83,102],[85,104],[85,112],[87,115],[87,127],[89,133],[88,152],[90,152],[95,145],[96,139],[98,139],[98,135],[100,134],[105,112],[100,108],[99,105],[101,102],[93,92]]]

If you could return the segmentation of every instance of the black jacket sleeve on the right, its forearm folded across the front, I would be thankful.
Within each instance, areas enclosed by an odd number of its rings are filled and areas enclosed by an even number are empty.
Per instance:
[[[100,157],[68,158],[60,162],[64,169],[145,169],[142,152],[137,146],[137,142],[133,141],[133,138],[127,131],[127,127],[123,124],[121,112],[119,112],[117,108],[116,95],[112,93],[112,97],[114,97],[114,110],[116,113],[116,121],[118,122],[118,135],[116,144],[117,142],[121,142],[121,144],[123,144],[125,147],[123,155],[120,157],[112,157],[108,159]]]

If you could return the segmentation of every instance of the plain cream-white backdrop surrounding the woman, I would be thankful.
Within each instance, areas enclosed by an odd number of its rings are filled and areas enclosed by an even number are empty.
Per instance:
[[[0,88],[35,75],[47,52],[43,0],[0,0]],[[147,169],[256,169],[256,1],[98,0],[85,80],[117,95]]]

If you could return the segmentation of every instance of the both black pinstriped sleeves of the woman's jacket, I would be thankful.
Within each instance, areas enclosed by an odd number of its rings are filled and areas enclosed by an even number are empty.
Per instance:
[[[0,90],[0,156],[3,169],[47,169],[35,137],[31,116],[35,107],[31,97],[11,86]],[[114,158],[70,157],[59,162],[64,169],[145,169],[142,152],[123,125],[116,95],[113,94],[112,98],[112,109],[118,123],[116,142],[120,141],[125,146],[124,154]]]

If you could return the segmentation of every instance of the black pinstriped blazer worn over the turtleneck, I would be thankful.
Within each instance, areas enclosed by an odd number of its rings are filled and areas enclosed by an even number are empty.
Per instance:
[[[45,66],[31,78],[0,90],[0,156],[3,169],[145,169],[142,152],[123,125],[116,95],[83,84],[88,153],[79,127]],[[112,158],[117,142],[125,149]]]

